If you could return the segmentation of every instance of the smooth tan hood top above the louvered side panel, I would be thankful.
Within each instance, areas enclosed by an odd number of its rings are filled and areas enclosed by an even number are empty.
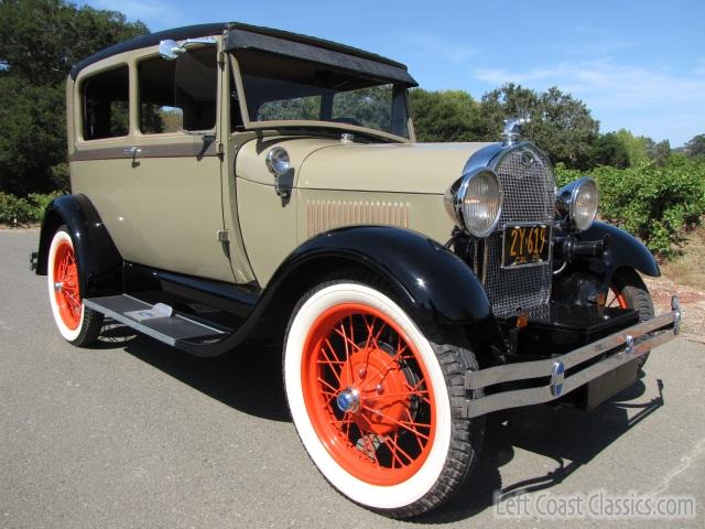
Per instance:
[[[469,158],[491,143],[337,143],[312,152],[296,186],[443,195]]]

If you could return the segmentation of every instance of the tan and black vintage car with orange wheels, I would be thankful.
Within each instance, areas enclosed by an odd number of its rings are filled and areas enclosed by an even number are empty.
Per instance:
[[[397,518],[471,476],[487,413],[631,385],[679,331],[677,300],[654,316],[640,279],[651,253],[595,219],[593,180],[556,191],[521,120],[417,143],[414,86],[394,61],[239,23],[75,65],[73,194],[31,256],[62,336],[89,346],[109,319],[202,357],[283,344],[314,464]]]

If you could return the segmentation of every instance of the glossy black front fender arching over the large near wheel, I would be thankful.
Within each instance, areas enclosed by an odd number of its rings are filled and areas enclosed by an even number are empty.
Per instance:
[[[485,289],[463,260],[433,239],[391,226],[350,226],[308,239],[280,266],[268,290],[330,259],[377,272],[436,323],[471,324],[491,315]]]

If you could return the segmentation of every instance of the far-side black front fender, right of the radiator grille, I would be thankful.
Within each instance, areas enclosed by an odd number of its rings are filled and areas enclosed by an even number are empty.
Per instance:
[[[604,277],[609,283],[615,271],[622,267],[633,268],[639,272],[658,278],[661,276],[659,263],[649,249],[636,237],[605,223],[593,223],[593,226],[581,234],[582,240],[598,240],[609,236],[609,245],[601,260],[593,260],[590,268]]]

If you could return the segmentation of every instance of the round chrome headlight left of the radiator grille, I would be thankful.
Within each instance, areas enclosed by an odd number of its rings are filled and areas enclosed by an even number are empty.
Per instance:
[[[476,237],[489,235],[502,210],[502,190],[490,169],[473,171],[458,180],[445,195],[451,217]]]

